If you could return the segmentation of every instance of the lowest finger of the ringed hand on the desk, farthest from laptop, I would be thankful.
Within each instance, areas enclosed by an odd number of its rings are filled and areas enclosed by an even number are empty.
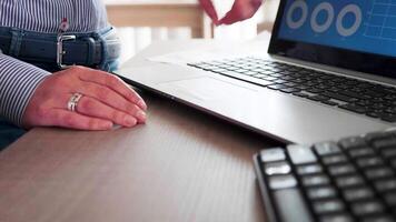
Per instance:
[[[47,125],[63,127],[77,130],[110,130],[112,122],[86,117],[63,109],[53,109],[48,113]]]

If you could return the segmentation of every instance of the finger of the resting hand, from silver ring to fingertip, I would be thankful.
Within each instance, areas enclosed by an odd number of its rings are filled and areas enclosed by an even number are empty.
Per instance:
[[[109,120],[116,124],[123,125],[123,127],[133,127],[138,123],[138,119],[135,117],[112,109],[96,99],[89,97],[82,97],[77,105],[77,112],[93,117]],[[139,120],[141,121],[141,120]]]

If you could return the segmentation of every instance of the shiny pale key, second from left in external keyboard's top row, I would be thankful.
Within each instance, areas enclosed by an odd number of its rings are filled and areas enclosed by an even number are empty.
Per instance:
[[[307,145],[288,145],[287,152],[296,165],[317,162],[316,155]]]

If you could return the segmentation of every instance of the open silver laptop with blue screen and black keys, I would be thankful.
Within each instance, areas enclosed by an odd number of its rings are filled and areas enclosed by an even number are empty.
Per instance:
[[[396,8],[281,0],[267,59],[143,61],[116,74],[281,142],[314,143],[396,122]]]

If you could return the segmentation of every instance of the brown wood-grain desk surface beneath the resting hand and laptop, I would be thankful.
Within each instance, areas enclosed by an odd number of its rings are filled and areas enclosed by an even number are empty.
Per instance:
[[[34,129],[1,152],[0,221],[264,221],[251,157],[269,141],[142,97],[146,125]]]

